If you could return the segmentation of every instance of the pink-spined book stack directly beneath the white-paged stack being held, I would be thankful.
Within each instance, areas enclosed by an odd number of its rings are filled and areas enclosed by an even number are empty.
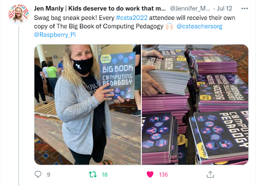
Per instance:
[[[188,88],[185,89],[184,96],[178,94],[142,95],[142,113],[171,112],[178,126],[184,126],[185,115],[190,110],[188,98]],[[183,132],[181,129],[180,132]]]

